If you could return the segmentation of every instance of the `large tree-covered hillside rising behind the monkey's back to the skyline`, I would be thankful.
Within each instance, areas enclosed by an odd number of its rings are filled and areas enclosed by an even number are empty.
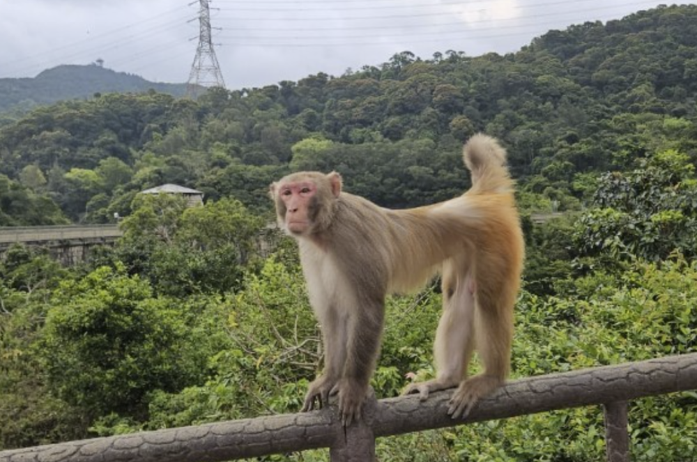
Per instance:
[[[550,31],[505,56],[401,52],[342,77],[197,101],[94,87],[0,128],[0,174],[73,221],[127,216],[135,192],[163,183],[266,210],[268,184],[296,169],[336,169],[351,192],[401,208],[464,190],[461,144],[484,131],[507,146],[535,207],[579,210],[605,171],[668,148],[697,158],[696,24],[697,6],[662,6]]]

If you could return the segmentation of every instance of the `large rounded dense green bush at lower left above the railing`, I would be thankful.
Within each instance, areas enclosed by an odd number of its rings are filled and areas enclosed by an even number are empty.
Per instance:
[[[63,282],[40,345],[50,390],[91,417],[143,415],[148,393],[176,392],[204,376],[193,320],[180,302],[153,297],[148,282],[123,266]]]

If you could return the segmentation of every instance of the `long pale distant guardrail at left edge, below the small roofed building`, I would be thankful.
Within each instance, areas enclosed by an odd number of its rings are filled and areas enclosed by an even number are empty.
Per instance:
[[[65,226],[3,226],[0,227],[0,245],[17,243],[114,240],[123,236],[116,224],[65,225]]]

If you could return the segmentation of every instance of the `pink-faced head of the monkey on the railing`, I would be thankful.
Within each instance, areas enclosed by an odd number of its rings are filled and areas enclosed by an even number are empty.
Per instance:
[[[309,236],[326,229],[342,192],[337,172],[301,171],[284,176],[270,186],[279,225],[292,236]]]

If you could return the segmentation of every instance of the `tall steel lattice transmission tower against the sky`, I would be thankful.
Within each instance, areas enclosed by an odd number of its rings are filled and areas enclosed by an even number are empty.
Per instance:
[[[196,2],[194,1],[190,5],[194,3]],[[194,63],[191,65],[189,81],[186,86],[186,94],[191,98],[196,98],[205,87],[225,87],[220,64],[215,57],[213,41],[211,40],[210,29],[212,28],[210,27],[208,3],[210,3],[209,0],[199,0],[201,5],[199,9],[199,46],[196,48],[196,56],[194,56]]]

